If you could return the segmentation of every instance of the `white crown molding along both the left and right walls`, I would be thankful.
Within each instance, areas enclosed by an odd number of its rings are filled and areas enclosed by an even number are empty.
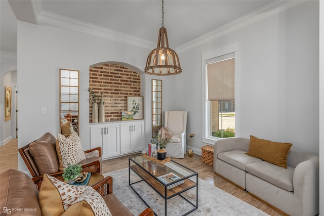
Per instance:
[[[269,16],[277,14],[281,11],[285,11],[296,5],[299,5],[307,0],[301,1],[274,1],[260,9],[257,9],[245,16],[242,16],[232,22],[229,22],[217,29],[214,29],[206,34],[203,34],[193,40],[186,42],[185,44],[178,46],[175,50],[178,53],[188,51],[194,47],[205,44],[206,42],[212,41],[218,37],[226,35],[232,31],[238,30],[242,27],[248,26],[252,23],[265,19]],[[58,14],[54,14],[48,11],[42,10],[42,3],[40,1],[32,1],[33,11],[36,17],[36,21],[39,23],[47,23],[55,25],[62,28],[67,28],[79,32],[84,32],[87,34],[92,34],[95,36],[104,37],[107,39],[127,43],[130,45],[154,49],[156,42],[142,39],[140,37],[135,37],[133,35],[121,33],[108,28],[103,28],[101,26],[93,25],[87,22],[79,21],[76,19],[68,18]]]

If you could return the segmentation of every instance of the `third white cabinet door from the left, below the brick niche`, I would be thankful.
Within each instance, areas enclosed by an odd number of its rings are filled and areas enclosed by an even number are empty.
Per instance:
[[[133,123],[120,124],[120,154],[133,151]]]

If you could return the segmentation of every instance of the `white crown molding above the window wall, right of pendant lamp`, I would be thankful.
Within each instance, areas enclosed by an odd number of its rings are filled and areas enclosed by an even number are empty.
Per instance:
[[[246,14],[246,15],[236,19],[236,20],[233,20],[219,28],[216,28],[206,34],[196,37],[193,40],[190,40],[190,41],[186,42],[185,44],[176,47],[175,50],[177,51],[177,53],[182,53],[182,52],[188,51],[192,48],[203,45],[209,41],[215,40],[216,38],[224,36],[230,32],[233,32],[240,28],[251,25],[252,23],[263,20],[267,17],[270,17],[270,16],[277,14],[281,11],[285,11],[289,8],[292,8],[296,5],[304,3],[306,1],[308,1],[308,0],[301,0],[301,1],[281,0],[281,1],[271,2],[268,5],[265,5],[264,7],[261,7],[249,14]]]

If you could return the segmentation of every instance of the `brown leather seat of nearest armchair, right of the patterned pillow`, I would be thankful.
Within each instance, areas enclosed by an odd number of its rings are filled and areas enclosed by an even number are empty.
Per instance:
[[[112,215],[134,216],[134,214],[121,203],[114,194],[103,197]]]

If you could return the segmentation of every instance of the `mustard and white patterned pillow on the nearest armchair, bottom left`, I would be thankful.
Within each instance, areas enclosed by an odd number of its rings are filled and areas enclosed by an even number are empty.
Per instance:
[[[92,187],[69,185],[47,174],[39,190],[39,205],[47,216],[111,216],[104,199]]]

